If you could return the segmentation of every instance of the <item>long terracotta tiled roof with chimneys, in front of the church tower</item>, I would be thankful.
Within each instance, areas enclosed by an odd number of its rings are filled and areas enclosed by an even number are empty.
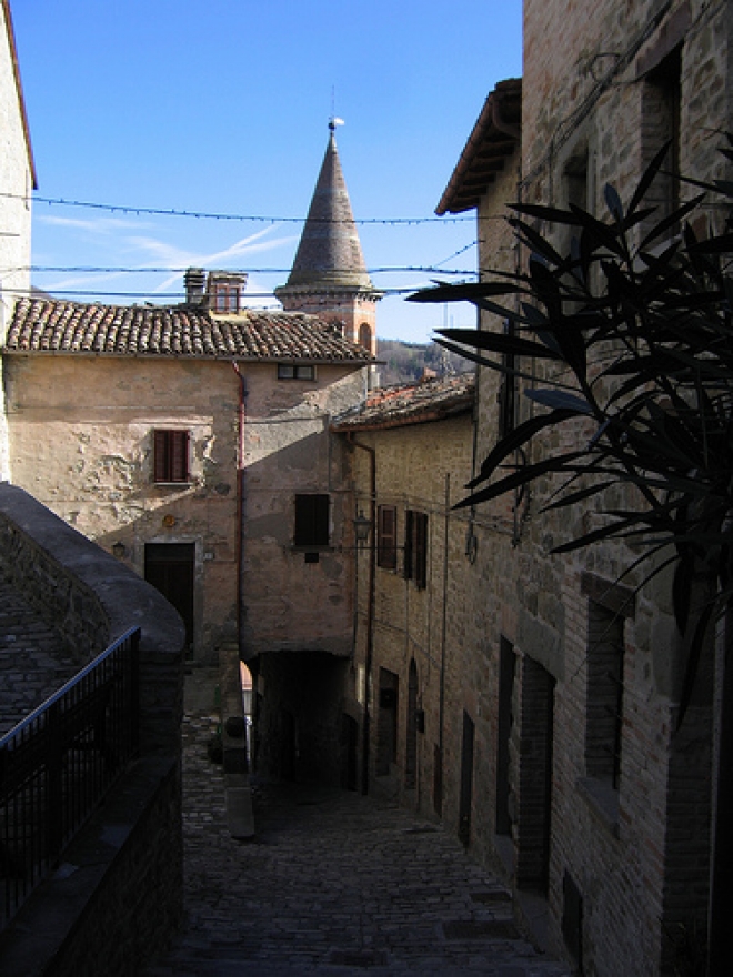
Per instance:
[[[251,309],[225,318],[185,306],[84,305],[34,298],[17,303],[3,352],[372,362],[337,326],[302,312]]]

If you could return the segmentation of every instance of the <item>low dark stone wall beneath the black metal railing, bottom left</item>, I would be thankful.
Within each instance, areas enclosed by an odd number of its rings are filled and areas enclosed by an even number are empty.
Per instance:
[[[0,934],[4,977],[129,977],[164,950],[183,910],[177,761],[141,759]]]

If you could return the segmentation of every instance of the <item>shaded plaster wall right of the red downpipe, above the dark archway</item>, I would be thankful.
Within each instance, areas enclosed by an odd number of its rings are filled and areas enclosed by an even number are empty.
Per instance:
[[[331,417],[358,403],[365,371],[318,366],[315,381],[248,373],[242,651],[349,655],[351,518],[341,441]],[[330,496],[329,545],[294,545],[295,495]],[[344,548],[347,551],[344,553]],[[308,555],[312,554],[312,555]],[[313,562],[308,562],[308,561]]]

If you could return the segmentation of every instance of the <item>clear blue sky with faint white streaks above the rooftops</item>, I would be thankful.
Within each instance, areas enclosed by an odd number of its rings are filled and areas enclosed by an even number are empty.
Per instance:
[[[67,269],[202,264],[250,270],[252,304],[273,305],[332,111],[345,122],[339,152],[374,284],[434,276],[378,269],[475,268],[473,214],[438,220],[434,209],[484,99],[521,74],[521,0],[11,2],[39,179],[33,264],[63,269],[33,272],[34,284],[165,303],[182,290],[175,271]],[[389,223],[404,219],[415,223]],[[424,342],[473,322],[471,306],[388,295],[378,332]]]

